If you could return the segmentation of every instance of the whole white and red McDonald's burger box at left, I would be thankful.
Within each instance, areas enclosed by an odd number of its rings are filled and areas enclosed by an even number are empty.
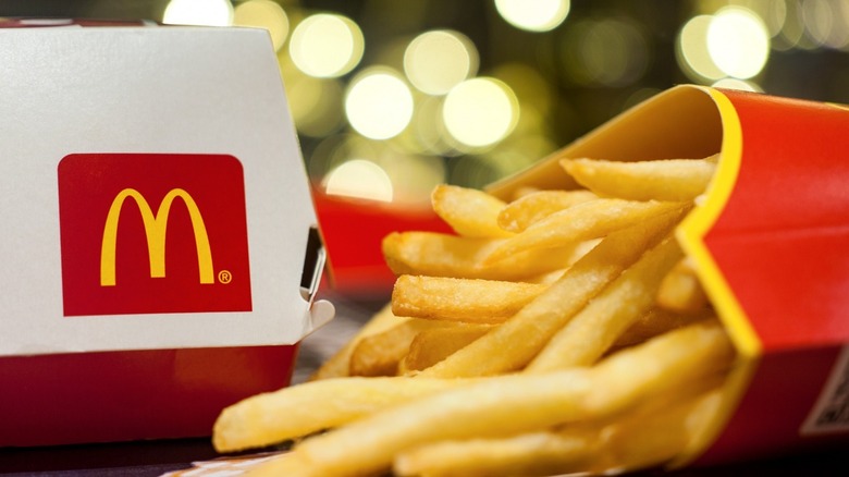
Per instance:
[[[267,32],[0,28],[0,447],[208,436],[324,253]]]

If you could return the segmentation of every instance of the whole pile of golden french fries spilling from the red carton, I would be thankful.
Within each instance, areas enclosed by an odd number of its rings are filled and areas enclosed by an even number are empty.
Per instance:
[[[610,473],[705,444],[735,350],[674,231],[717,158],[563,160],[583,188],[439,186],[456,232],[383,242],[391,306],[307,383],[226,408],[251,475]]]

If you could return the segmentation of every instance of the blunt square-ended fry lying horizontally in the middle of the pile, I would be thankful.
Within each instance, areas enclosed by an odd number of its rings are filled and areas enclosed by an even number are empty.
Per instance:
[[[545,285],[495,280],[401,276],[392,292],[398,316],[464,322],[502,322]]]

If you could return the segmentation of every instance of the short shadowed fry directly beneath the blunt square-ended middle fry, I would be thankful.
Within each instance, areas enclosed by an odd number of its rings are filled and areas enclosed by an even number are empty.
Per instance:
[[[416,375],[451,356],[457,350],[492,330],[487,325],[458,323],[419,332],[409,345],[409,352],[398,366],[401,374]]]

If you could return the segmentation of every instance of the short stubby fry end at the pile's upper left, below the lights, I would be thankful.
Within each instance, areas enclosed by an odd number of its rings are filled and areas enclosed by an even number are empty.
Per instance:
[[[497,218],[504,201],[484,192],[438,185],[431,194],[433,211],[457,234],[473,238],[497,238],[513,235],[499,227]]]

